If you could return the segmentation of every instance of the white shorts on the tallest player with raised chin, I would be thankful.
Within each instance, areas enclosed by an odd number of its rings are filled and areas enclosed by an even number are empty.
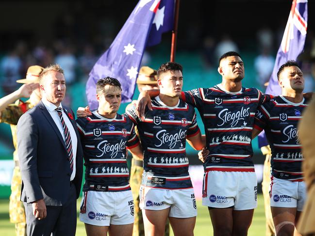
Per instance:
[[[204,173],[202,205],[214,208],[233,207],[234,210],[256,208],[256,173],[222,171]]]

